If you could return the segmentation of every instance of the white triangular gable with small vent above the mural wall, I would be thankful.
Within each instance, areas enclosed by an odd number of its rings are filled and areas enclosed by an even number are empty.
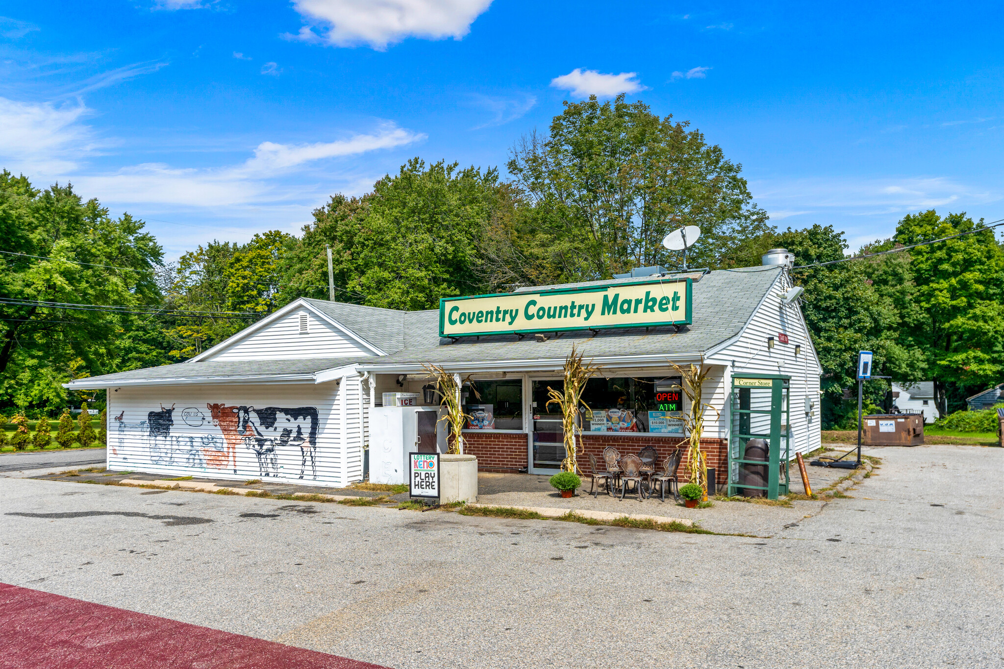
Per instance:
[[[205,360],[294,360],[372,355],[308,309],[291,311]]]

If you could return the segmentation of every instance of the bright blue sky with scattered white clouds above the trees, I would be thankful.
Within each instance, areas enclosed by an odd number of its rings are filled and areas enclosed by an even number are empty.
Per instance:
[[[779,228],[1004,218],[1004,12],[919,4],[6,2],[0,166],[177,258],[295,233],[415,155],[504,173],[562,100],[624,91],[741,162]]]

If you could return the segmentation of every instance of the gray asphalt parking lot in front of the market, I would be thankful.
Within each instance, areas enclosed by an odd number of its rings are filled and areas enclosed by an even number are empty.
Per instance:
[[[1004,667],[1004,451],[875,454],[762,539],[3,478],[0,581],[402,669]]]

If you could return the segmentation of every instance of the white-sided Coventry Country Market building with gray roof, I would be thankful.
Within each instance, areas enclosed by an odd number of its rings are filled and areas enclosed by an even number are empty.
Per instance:
[[[186,362],[66,386],[107,390],[109,469],[343,486],[363,477],[370,409],[384,393],[435,402],[423,391],[435,364],[470,379],[464,449],[482,470],[547,473],[564,455],[547,388],[560,386],[574,345],[598,367],[584,397],[586,453],[679,447],[690,404],[676,366],[702,365],[702,446],[719,485],[736,484],[751,435],[772,438],[782,459],[820,443],[820,367],[791,289],[785,267],[765,266],[524,288],[417,312],[301,298]],[[552,302],[550,314],[534,311]],[[488,307],[469,308],[478,304]]]

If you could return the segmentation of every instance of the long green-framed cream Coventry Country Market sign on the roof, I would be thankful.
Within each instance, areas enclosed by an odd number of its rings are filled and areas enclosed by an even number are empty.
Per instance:
[[[691,323],[693,281],[612,285],[440,300],[440,336],[604,330]]]

